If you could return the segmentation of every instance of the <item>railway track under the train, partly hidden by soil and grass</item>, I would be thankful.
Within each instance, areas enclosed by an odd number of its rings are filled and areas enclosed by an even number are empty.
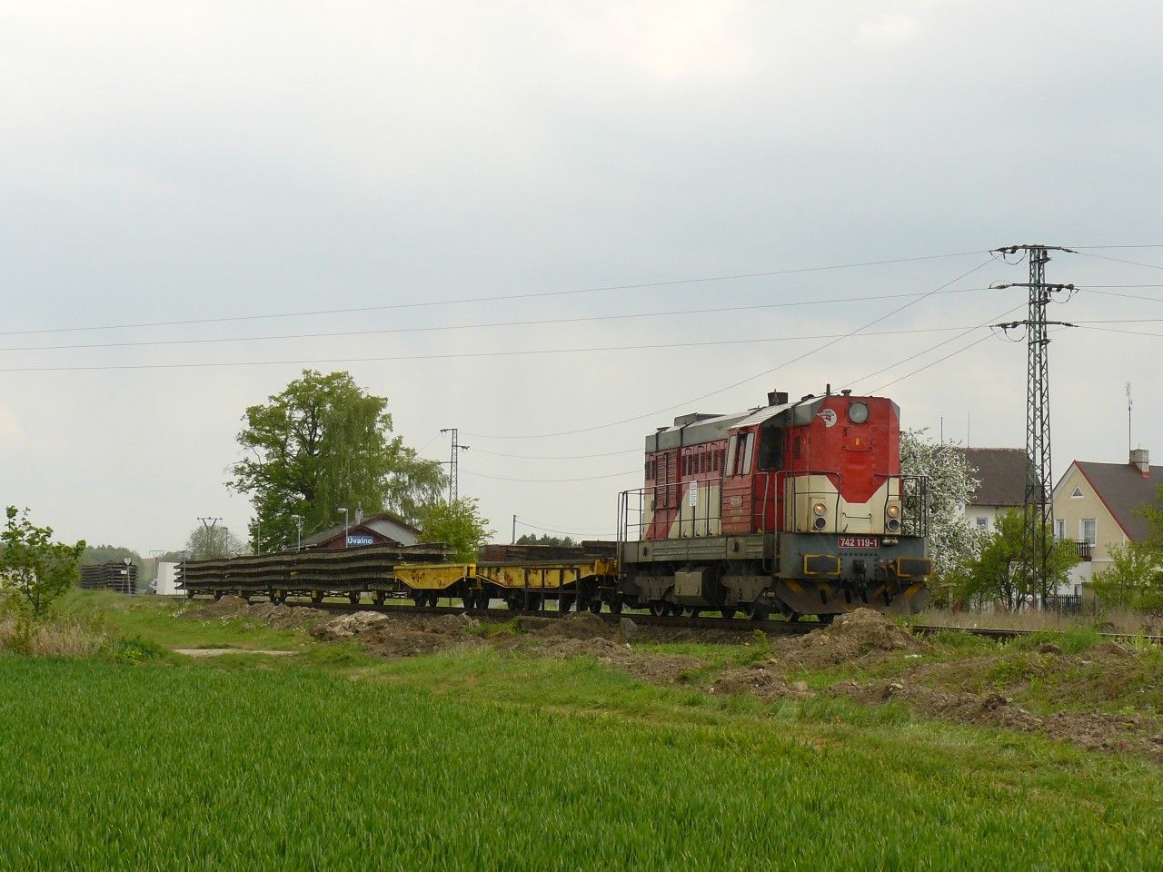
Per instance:
[[[287,606],[297,607],[308,607],[317,608],[324,612],[335,612],[336,614],[350,614],[355,612],[378,612],[385,615],[392,615],[395,617],[415,617],[416,615],[461,615],[468,614],[477,619],[487,619],[492,621],[509,621],[518,616],[528,617],[548,617],[548,619],[562,619],[568,615],[576,614],[573,612],[558,612],[556,609],[508,609],[508,608],[471,608],[466,609],[462,606],[376,606],[373,603],[359,603],[352,605],[350,602],[307,602],[307,601],[287,601]],[[611,614],[609,612],[602,612],[595,617],[600,617],[604,621],[613,623],[620,617],[629,617],[634,623],[640,627],[673,627],[673,628],[685,628],[693,630],[727,630],[735,632],[751,632],[752,630],[763,630],[764,632],[783,635],[783,636],[804,636],[813,630],[819,630],[826,624],[821,624],[816,621],[751,621],[744,617],[675,617],[675,616],[663,616],[651,615],[649,613],[640,612],[623,612],[620,615]],[[940,627],[935,624],[913,624],[911,627],[913,632],[920,632],[925,636],[933,635],[935,632],[964,632],[971,636],[984,636],[985,638],[992,639],[1014,639],[1022,636],[1032,636],[1035,632],[1041,632],[1041,630],[1020,630],[1009,629],[1000,627]],[[1125,632],[1100,632],[1104,639],[1111,639],[1114,642],[1127,641],[1130,638],[1142,638],[1151,644],[1163,644],[1163,636],[1137,636],[1134,634]]]

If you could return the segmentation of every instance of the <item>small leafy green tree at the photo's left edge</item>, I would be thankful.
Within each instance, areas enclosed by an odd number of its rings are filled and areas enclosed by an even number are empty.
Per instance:
[[[15,506],[8,506],[6,515],[0,530],[0,587],[14,591],[21,607],[38,619],[76,584],[85,542],[53,542],[51,527],[36,527],[28,512]]]

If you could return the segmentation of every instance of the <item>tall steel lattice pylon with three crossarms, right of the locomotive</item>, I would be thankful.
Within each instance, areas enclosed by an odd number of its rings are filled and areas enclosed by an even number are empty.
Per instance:
[[[996,249],[1000,255],[1026,252],[1029,281],[994,285],[994,287],[1025,287],[1028,290],[1028,309],[1025,321],[994,324],[1004,330],[1026,328],[1026,498],[1023,501],[1022,566],[1027,577],[1036,581],[1041,605],[1048,605],[1050,594],[1050,548],[1054,533],[1054,472],[1050,463],[1050,337],[1053,326],[1073,327],[1066,321],[1048,321],[1046,307],[1055,294],[1073,292],[1073,285],[1049,285],[1046,264],[1050,251],[1068,251],[1061,245],[1007,245]]]

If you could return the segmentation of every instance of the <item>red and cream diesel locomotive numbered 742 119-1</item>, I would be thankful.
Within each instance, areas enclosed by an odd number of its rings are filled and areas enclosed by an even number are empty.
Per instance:
[[[647,436],[645,487],[622,494],[619,595],[655,614],[912,614],[933,573],[927,495],[882,396],[684,415]]]

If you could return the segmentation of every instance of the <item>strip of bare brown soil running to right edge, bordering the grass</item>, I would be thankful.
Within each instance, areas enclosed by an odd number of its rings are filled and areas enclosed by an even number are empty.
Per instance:
[[[1039,732],[1089,750],[1132,751],[1163,762],[1163,732],[1154,717],[1105,712],[1056,712],[1037,715],[1000,693],[968,693],[925,687],[904,679],[834,685],[832,693],[858,702],[907,702],[915,710],[958,723]]]

